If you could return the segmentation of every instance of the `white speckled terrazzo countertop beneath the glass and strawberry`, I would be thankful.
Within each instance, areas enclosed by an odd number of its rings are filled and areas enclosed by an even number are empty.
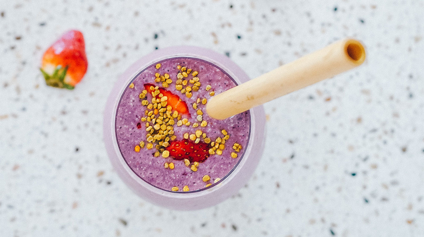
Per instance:
[[[2,1],[0,236],[424,235],[422,0],[185,2]],[[46,87],[40,58],[69,28],[89,70]],[[170,211],[112,169],[103,107],[140,56],[203,46],[253,78],[347,36],[365,64],[265,105],[265,153],[231,199]]]

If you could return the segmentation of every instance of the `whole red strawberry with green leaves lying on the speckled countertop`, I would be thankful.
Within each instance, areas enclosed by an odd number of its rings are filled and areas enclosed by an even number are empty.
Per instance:
[[[70,30],[45,51],[40,70],[47,85],[72,90],[87,66],[84,37],[80,31]]]

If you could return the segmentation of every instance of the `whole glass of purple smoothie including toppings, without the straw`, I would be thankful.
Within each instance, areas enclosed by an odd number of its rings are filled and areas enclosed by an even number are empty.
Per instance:
[[[169,84],[163,82],[168,77]],[[171,209],[212,206],[237,192],[262,155],[263,109],[216,120],[202,100],[247,80],[225,56],[195,47],[155,51],[132,65],[112,90],[104,117],[106,149],[121,178],[141,197]],[[161,107],[163,95],[170,99]]]

